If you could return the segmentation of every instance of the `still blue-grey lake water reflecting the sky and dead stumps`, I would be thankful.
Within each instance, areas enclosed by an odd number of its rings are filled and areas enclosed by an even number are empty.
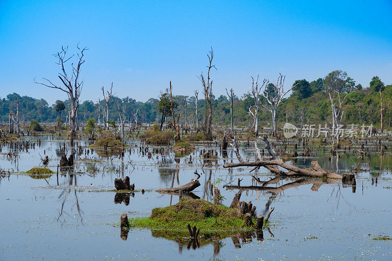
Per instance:
[[[35,148],[1,147],[2,153],[18,151],[19,156],[0,155],[0,168],[11,171],[0,179],[0,260],[392,260],[392,240],[376,240],[392,236],[391,149],[380,156],[370,146],[372,156],[363,160],[357,158],[356,149],[342,150],[337,162],[337,157],[330,159],[330,146],[324,153],[323,146],[313,145],[312,156],[295,164],[307,166],[318,160],[321,167],[343,173],[360,161],[367,171],[356,174],[355,190],[341,181],[322,184],[321,180],[282,179],[268,186],[292,182],[299,186],[279,193],[244,191],[241,200],[252,201],[257,214],[266,215],[275,208],[263,240],[252,233],[224,239],[212,235],[197,245],[185,237],[147,229],[131,229],[122,237],[119,219],[123,213],[128,218],[149,216],[153,208],[176,204],[178,196],[155,190],[188,183],[196,178],[195,170],[201,174],[201,186],[193,192],[211,201],[209,180],[223,180],[218,187],[226,206],[238,190],[226,190],[224,184],[233,181],[237,185],[237,179],[243,178],[242,186],[261,186],[248,173],[250,168],[225,169],[221,158],[219,166],[213,163],[202,169],[200,150],[213,148],[221,155],[219,145],[198,144],[190,155],[179,157],[179,163],[168,148],[148,159],[140,152],[138,140],[127,142],[123,161],[95,151],[79,155],[77,149],[74,168],[34,179],[22,172],[42,166],[41,156],[46,155],[51,159],[49,168],[56,172],[64,141],[41,137],[39,146],[38,138],[25,140],[35,142]],[[252,148],[241,144],[240,152],[243,158],[254,160]],[[228,161],[237,162],[231,147],[228,155]],[[188,164],[190,156],[192,164]],[[261,181],[274,178],[263,168],[256,174]],[[136,190],[146,190],[130,195],[129,204],[127,196],[108,191],[114,190],[114,179],[123,176],[130,177]]]

